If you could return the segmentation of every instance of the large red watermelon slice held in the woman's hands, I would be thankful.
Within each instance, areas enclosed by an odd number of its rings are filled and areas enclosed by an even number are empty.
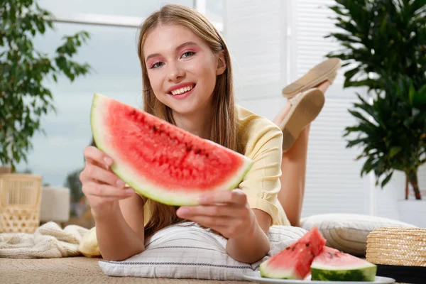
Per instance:
[[[102,94],[94,94],[91,125],[97,147],[114,160],[111,170],[164,204],[195,205],[204,192],[234,189],[253,163]]]

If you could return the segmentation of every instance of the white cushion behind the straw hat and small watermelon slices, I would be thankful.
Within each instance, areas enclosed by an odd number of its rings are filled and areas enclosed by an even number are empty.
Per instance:
[[[327,246],[365,256],[367,236],[376,228],[382,226],[415,227],[412,224],[393,219],[375,217],[363,214],[318,214],[301,219],[300,226],[310,230],[317,226],[325,239]]]

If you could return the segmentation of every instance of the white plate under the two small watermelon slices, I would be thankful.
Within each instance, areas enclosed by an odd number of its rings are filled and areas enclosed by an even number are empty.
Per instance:
[[[273,278],[263,278],[259,271],[253,271],[251,273],[246,273],[244,278],[251,280],[257,283],[282,283],[282,284],[376,284],[376,283],[394,283],[395,279],[376,276],[374,281],[317,281],[317,280],[292,280],[292,279],[273,279]]]

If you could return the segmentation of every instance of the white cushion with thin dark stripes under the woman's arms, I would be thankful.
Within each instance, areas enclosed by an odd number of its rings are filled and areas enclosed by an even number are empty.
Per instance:
[[[151,236],[146,240],[146,251],[126,261],[99,261],[99,266],[110,276],[244,280],[244,273],[258,270],[263,261],[306,232],[293,226],[271,226],[268,234],[271,251],[260,261],[247,264],[228,256],[226,239],[222,236],[185,222]]]

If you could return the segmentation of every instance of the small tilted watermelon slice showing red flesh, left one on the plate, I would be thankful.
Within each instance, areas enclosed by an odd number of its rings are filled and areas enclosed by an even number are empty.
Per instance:
[[[310,273],[310,266],[315,256],[321,253],[326,240],[313,227],[302,238],[268,260],[259,267],[261,276],[266,278],[282,278],[302,280]]]

